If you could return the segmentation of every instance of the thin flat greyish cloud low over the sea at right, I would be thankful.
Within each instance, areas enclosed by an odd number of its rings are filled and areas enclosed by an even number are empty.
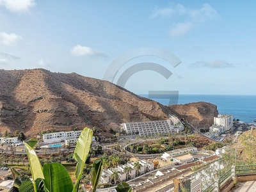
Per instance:
[[[207,68],[227,68],[234,67],[234,64],[228,63],[223,60],[213,60],[213,61],[196,61],[192,63],[191,67],[207,67]]]

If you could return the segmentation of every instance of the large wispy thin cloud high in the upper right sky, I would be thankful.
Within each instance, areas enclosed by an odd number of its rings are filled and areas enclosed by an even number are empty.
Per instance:
[[[150,18],[171,17],[178,22],[170,28],[170,35],[177,36],[188,33],[196,25],[220,17],[218,12],[209,4],[203,4],[201,8],[186,8],[182,4],[172,4],[167,8],[155,8]]]

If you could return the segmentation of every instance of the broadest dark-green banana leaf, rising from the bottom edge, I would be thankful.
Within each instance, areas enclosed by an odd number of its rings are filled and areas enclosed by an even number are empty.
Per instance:
[[[71,192],[73,189],[72,180],[67,170],[59,163],[44,164],[44,187],[50,192]]]

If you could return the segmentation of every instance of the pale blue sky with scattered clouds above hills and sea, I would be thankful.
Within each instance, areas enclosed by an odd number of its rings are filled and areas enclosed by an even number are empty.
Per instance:
[[[172,52],[129,58],[118,81],[137,63],[157,63],[133,74],[134,93],[256,95],[256,2],[0,0],[0,68],[45,68],[103,79],[111,63],[140,47]],[[150,49],[150,48],[149,48]]]

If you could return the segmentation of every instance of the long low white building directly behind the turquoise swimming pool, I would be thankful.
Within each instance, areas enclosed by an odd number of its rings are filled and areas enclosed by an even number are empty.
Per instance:
[[[43,134],[44,143],[57,143],[65,139],[79,138],[82,131],[61,131]]]

